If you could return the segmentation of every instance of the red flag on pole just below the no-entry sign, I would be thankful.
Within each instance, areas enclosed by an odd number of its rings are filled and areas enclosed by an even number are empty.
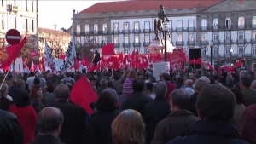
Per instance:
[[[26,36],[22,39],[20,43],[7,47],[6,51],[8,53],[8,58],[7,60],[3,61],[3,64],[0,67],[1,68],[9,67],[12,64],[12,62],[16,60],[16,58],[20,53],[20,50],[22,49],[25,43],[26,43]]]

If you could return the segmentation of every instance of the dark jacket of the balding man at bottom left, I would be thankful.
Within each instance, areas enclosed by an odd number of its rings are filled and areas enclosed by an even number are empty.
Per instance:
[[[33,141],[28,144],[64,144],[59,137],[53,135],[37,135]]]

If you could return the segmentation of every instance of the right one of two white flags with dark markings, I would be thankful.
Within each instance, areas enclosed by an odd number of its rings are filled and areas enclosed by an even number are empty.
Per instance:
[[[61,65],[61,74],[64,74],[67,72],[67,70],[73,66],[74,58],[76,58],[76,49],[74,44],[74,37],[72,37],[70,43],[68,44],[68,49],[66,52],[65,60],[63,60],[63,63]]]

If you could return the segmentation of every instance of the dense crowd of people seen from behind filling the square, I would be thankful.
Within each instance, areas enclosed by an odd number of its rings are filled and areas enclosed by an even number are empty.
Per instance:
[[[96,93],[88,114],[69,99],[84,75]],[[245,70],[3,73],[3,144],[256,143],[256,81]],[[157,80],[159,79],[159,80]],[[1,82],[1,81],[0,81]],[[1,83],[2,84],[2,83]],[[85,95],[90,96],[90,95]]]

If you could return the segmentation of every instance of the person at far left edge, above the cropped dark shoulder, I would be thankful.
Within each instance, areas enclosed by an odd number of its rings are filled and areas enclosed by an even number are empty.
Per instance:
[[[8,111],[9,106],[14,104],[14,101],[11,101],[7,98],[7,90],[8,86],[7,84],[3,84],[2,88],[0,89],[0,109],[4,111]]]

